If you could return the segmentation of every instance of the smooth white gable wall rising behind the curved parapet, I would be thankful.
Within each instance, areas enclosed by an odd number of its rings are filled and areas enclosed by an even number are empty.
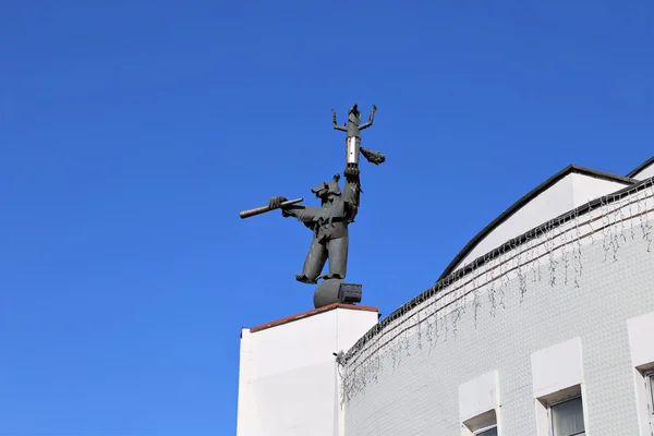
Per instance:
[[[589,201],[610,194],[626,184],[571,172],[542,192],[486,235],[455,269],[498,247],[552,218]]]

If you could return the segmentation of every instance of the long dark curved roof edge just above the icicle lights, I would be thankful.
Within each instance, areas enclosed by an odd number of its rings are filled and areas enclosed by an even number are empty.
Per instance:
[[[574,167],[574,166],[571,166],[571,167]],[[566,168],[566,170],[570,171],[569,168],[570,167]],[[577,168],[582,168],[582,167],[577,167]],[[597,171],[597,172],[601,172],[601,171]],[[643,190],[646,186],[652,185],[653,182],[654,182],[654,177],[647,178],[645,180],[638,181],[635,184],[625,186],[621,190],[618,190],[616,192],[613,192],[613,193],[603,195],[598,198],[592,199],[584,205],[576,207],[562,215],[559,215],[558,217],[552,218],[552,219],[547,220],[546,222],[544,222],[537,227],[534,227],[533,229],[531,229],[516,238],[508,240],[507,242],[499,245],[498,247],[493,249],[488,253],[477,257],[471,264],[468,264],[468,265],[457,269],[453,274],[450,274],[444,278],[439,278],[436,281],[436,283],[434,283],[433,287],[431,287],[426,291],[421,292],[420,294],[417,294],[416,296],[414,296],[413,299],[411,299],[410,301],[408,301],[407,303],[402,304],[400,307],[395,310],[386,318],[384,318],[379,323],[375,324],[364,336],[362,336],[350,348],[350,350],[348,350],[348,352],[346,353],[346,361],[350,360],[353,356],[353,354],[356,353],[356,350],[359,350],[363,346],[365,346],[366,342],[372,340],[373,337],[375,337],[379,331],[384,330],[384,328],[387,325],[389,325],[390,323],[392,323],[395,319],[403,316],[404,314],[407,314],[409,311],[413,310],[419,304],[427,301],[427,299],[429,299],[433,295],[435,295],[436,293],[438,293],[440,289],[448,287],[450,283],[465,277],[468,274],[470,274],[473,270],[477,269],[479,267],[485,265],[487,262],[493,261],[496,257],[496,255],[498,255],[500,253],[505,253],[507,250],[512,250],[512,249],[525,243],[526,241],[530,241],[531,239],[536,238],[538,234],[542,234],[544,231],[549,231],[554,228],[562,226],[566,222],[568,222],[579,216],[589,214],[592,210],[594,210],[598,207],[602,207],[603,205],[610,204],[617,199],[621,199],[626,195],[630,195],[633,192]]]

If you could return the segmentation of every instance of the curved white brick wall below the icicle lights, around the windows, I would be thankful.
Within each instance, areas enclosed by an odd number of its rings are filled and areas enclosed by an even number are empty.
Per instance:
[[[601,242],[583,249],[579,288],[558,280],[529,283],[520,302],[518,280],[491,315],[481,300],[476,326],[468,307],[431,348],[410,338],[410,355],[386,362],[377,379],[346,404],[348,436],[461,435],[459,386],[497,371],[501,436],[536,434],[531,356],[579,337],[586,431],[590,436],[639,435],[627,319],[654,312],[654,251],[646,241],[620,240],[618,259],[604,261]],[[653,346],[654,347],[654,343]],[[390,355],[386,358],[390,360]]]

